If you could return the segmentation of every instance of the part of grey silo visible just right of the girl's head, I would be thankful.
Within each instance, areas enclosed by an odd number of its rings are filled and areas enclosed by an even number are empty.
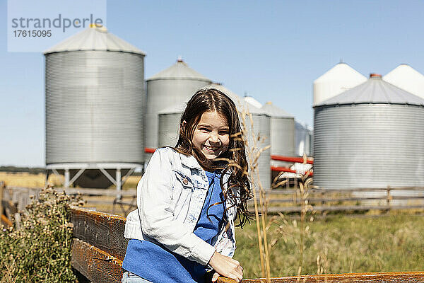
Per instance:
[[[252,115],[252,121],[249,119],[247,115],[245,115],[245,121],[247,124],[247,141],[249,146],[252,146],[252,154],[257,154],[259,149],[268,146],[271,143],[271,117],[261,110],[260,108],[256,108],[254,105],[248,103],[246,100],[228,90],[222,85],[211,83],[206,88],[216,88],[219,91],[222,91],[227,96],[229,96],[237,105],[240,114],[242,114],[243,110],[247,110]],[[253,126],[253,134],[251,132]],[[259,137],[264,139],[262,142],[257,142],[257,147],[254,148],[254,137]],[[247,154],[247,152],[246,152]],[[271,155],[270,150],[267,149],[263,151],[259,156],[258,167],[259,167],[259,179],[261,181],[261,185],[265,190],[269,190],[271,188]]]

